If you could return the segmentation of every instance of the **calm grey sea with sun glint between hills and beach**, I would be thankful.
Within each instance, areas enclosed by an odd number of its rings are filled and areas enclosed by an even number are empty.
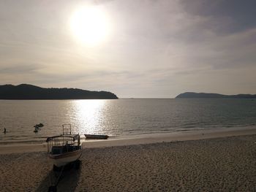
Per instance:
[[[34,125],[44,123],[38,133]],[[80,134],[125,136],[255,126],[255,99],[0,100],[0,144],[42,142],[71,123]],[[3,133],[4,127],[7,134]]]

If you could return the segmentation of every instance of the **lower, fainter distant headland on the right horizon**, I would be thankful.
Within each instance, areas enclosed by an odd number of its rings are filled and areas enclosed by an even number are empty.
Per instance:
[[[222,95],[218,93],[186,92],[176,96],[176,99],[256,99],[256,95],[251,95],[251,94]]]

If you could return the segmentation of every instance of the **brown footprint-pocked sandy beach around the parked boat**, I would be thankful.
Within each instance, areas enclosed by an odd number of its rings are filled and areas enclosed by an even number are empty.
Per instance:
[[[80,169],[64,171],[58,191],[256,191],[253,129],[190,135],[83,143]],[[48,191],[46,147],[4,147],[1,191]]]

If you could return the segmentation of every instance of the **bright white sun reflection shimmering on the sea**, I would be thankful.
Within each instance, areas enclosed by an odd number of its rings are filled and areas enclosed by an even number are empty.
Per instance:
[[[73,115],[80,134],[101,134],[104,120],[105,100],[73,101]]]

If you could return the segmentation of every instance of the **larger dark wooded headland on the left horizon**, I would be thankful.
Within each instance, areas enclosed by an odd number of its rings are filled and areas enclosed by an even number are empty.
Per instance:
[[[0,99],[118,99],[108,91],[78,88],[40,88],[34,85],[0,85]]]

